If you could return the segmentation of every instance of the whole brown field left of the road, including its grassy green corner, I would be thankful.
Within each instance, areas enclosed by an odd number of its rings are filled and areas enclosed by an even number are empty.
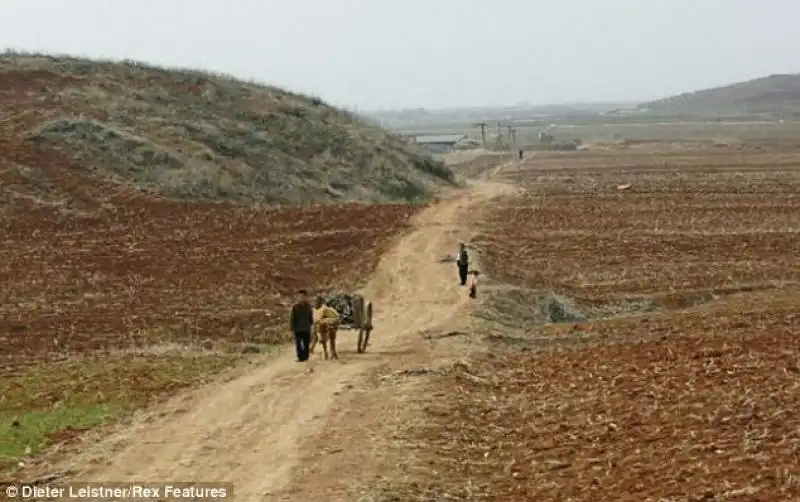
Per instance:
[[[52,188],[0,171],[0,471],[271,350],[294,291],[361,283],[423,208],[173,201],[12,143]]]

